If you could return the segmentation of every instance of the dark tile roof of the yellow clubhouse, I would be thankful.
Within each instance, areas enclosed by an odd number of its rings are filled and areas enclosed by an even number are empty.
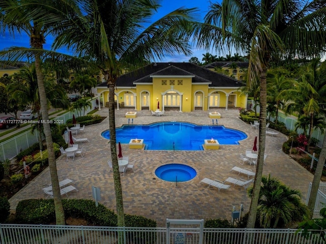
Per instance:
[[[151,76],[194,76],[193,83],[208,83],[209,87],[240,87],[243,83],[227,75],[213,72],[192,63],[152,63],[117,78],[117,87],[135,87],[137,83],[152,83]],[[97,87],[106,87],[106,82]]]

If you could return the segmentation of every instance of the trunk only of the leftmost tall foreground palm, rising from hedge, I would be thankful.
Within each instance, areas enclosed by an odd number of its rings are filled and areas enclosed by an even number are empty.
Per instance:
[[[31,40],[32,46],[42,49],[43,45],[33,45],[33,40]],[[45,94],[44,80],[41,68],[41,59],[40,56],[35,57],[35,68],[36,68],[36,76],[37,76],[37,85],[39,89],[40,95],[40,105],[41,105],[41,114],[42,119],[47,121],[49,119],[49,114],[47,111],[47,99]],[[60,194],[59,180],[58,180],[58,171],[56,164],[56,155],[55,150],[53,149],[53,141],[51,135],[51,128],[49,123],[43,123],[48,160],[49,160],[49,169],[51,176],[51,184],[52,184],[52,192],[53,192],[53,200],[55,203],[55,212],[56,212],[56,224],[57,225],[65,225],[65,212],[62,205],[62,199]]]

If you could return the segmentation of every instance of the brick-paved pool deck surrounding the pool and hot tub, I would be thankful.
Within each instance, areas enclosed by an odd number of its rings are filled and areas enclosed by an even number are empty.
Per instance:
[[[125,118],[130,108],[116,111],[116,126],[128,123]],[[220,145],[219,150],[205,151],[150,151],[130,149],[128,144],[122,144],[122,154],[129,156],[129,161],[134,162],[135,173],[128,169],[125,176],[121,174],[123,191],[124,212],[128,214],[143,215],[154,219],[158,227],[166,226],[166,219],[215,219],[231,220],[232,206],[239,208],[243,204],[244,213],[248,212],[250,199],[243,187],[230,187],[227,190],[208,187],[199,184],[203,178],[226,180],[228,177],[246,179],[246,175],[230,172],[231,168],[238,166],[250,168],[254,166],[238,164],[239,153],[245,154],[246,149],[252,149],[258,130],[252,129],[250,124],[241,121],[237,109],[228,111],[220,109],[222,114],[219,125],[242,130],[248,138],[241,141],[240,145]],[[108,109],[102,108],[97,114],[108,116]],[[212,120],[207,111],[180,113],[166,111],[165,116],[151,116],[150,111],[137,111],[137,118],[133,124],[150,124],[160,121],[182,121],[196,124],[211,125]],[[92,186],[101,189],[100,203],[116,211],[113,172],[109,172],[107,160],[111,159],[110,145],[101,137],[101,132],[108,129],[108,118],[102,123],[86,126],[85,131],[78,134],[80,138],[88,138],[90,143],[83,143],[86,154],[76,157],[74,161],[66,161],[66,156],[57,159],[59,180],[69,178],[74,181],[78,192],[68,193],[63,198],[92,199]],[[282,144],[286,141],[282,133],[274,137],[266,136],[267,153],[266,165],[263,174],[278,177],[285,184],[299,189],[303,200],[306,201],[309,182],[313,175],[290,159],[282,152]],[[154,171],[158,166],[167,163],[182,163],[193,167],[197,176],[187,182],[167,182],[158,179]],[[23,199],[46,198],[42,187],[50,183],[49,169],[45,169],[28,185],[23,187],[15,196],[9,199],[11,209]]]

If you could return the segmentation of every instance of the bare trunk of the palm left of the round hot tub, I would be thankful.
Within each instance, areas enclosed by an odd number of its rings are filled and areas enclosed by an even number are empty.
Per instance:
[[[110,123],[110,146],[111,146],[111,159],[113,166],[113,179],[114,188],[116,194],[117,202],[117,216],[118,216],[118,226],[125,226],[124,222],[124,211],[123,211],[123,198],[122,198],[122,186],[120,180],[118,156],[117,156],[117,140],[116,140],[116,122],[115,122],[115,109],[114,109],[114,89],[115,82],[108,82],[109,90],[109,106],[108,106],[108,121]]]

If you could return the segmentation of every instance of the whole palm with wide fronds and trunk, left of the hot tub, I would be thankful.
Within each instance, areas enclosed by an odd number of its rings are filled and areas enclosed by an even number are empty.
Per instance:
[[[58,1],[60,5],[69,1]],[[76,1],[77,2],[77,1]],[[177,9],[148,25],[159,7],[158,0],[108,1],[82,0],[74,5],[73,17],[67,13],[73,28],[60,32],[54,47],[68,45],[78,57],[89,58],[101,70],[109,89],[110,146],[113,163],[118,226],[124,226],[124,211],[120,173],[116,150],[114,89],[121,66],[139,67],[148,60],[166,55],[189,55],[187,43],[191,33],[187,20],[194,20],[195,9]],[[61,8],[61,7],[60,7]],[[79,9],[82,8],[82,9]],[[42,10],[43,9],[43,10]],[[38,13],[53,11],[51,1],[42,1]],[[56,10],[54,10],[56,11]],[[64,12],[63,12],[64,13]],[[146,23],[146,26],[145,26]]]

